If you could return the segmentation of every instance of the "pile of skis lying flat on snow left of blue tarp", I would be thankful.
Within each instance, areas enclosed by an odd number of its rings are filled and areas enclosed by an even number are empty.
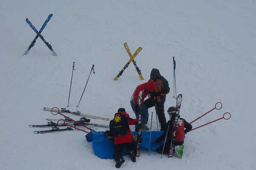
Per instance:
[[[47,119],[48,121],[50,121],[50,122],[47,122],[47,125],[29,125],[29,127],[52,127],[51,130],[39,130],[39,131],[34,131],[34,133],[51,133],[51,132],[62,132],[62,131],[67,131],[67,130],[77,130],[78,129],[77,127],[87,127],[87,129],[90,129],[89,127],[94,127],[94,126],[109,128],[108,125],[90,123],[90,119],[87,119],[85,117],[92,118],[92,119],[101,119],[101,120],[106,120],[106,121],[108,121],[109,118],[81,114],[80,111],[71,112],[69,110],[66,110],[66,108],[61,108],[60,111],[56,108],[53,108],[53,109],[52,108],[44,108],[44,110],[59,112],[59,113],[60,112],[61,113],[70,113],[73,115],[84,116],[84,117],[80,118],[79,121],[73,121],[73,119],[70,119],[67,116],[65,116],[66,117],[65,119],[61,119],[61,121],[63,122],[61,124],[59,124],[58,122],[57,123],[53,122],[53,121],[60,121],[59,119]],[[66,128],[60,128],[61,126],[64,126]]]

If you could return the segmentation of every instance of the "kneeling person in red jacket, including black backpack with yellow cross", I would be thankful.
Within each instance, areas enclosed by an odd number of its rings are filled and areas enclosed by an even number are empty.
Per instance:
[[[136,144],[129,125],[135,125],[138,119],[131,119],[124,108],[119,108],[113,120],[109,123],[111,133],[114,135],[115,150],[113,158],[116,161],[116,168],[121,167],[125,162],[122,151],[126,147],[128,155],[133,162],[136,162]]]

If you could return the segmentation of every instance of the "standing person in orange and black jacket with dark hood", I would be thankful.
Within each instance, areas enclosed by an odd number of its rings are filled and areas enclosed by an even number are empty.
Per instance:
[[[160,71],[153,68],[148,82],[154,82],[154,91],[149,93],[150,97],[143,103],[145,107],[152,108],[156,105],[157,115],[160,122],[161,130],[166,128],[166,117],[164,114],[164,102],[166,101],[166,94],[169,94],[170,88],[168,81],[161,76]]]

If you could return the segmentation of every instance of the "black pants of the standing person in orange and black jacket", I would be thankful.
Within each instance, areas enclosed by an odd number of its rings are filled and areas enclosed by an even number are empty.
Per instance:
[[[160,99],[161,99],[161,102],[157,102],[157,101],[155,101],[154,98],[148,98],[143,103],[147,109],[154,107],[155,104],[157,105],[156,111],[158,114],[158,119],[160,122],[161,130],[165,130],[166,129],[166,117],[164,114],[164,102],[166,101],[166,96],[161,96]]]

